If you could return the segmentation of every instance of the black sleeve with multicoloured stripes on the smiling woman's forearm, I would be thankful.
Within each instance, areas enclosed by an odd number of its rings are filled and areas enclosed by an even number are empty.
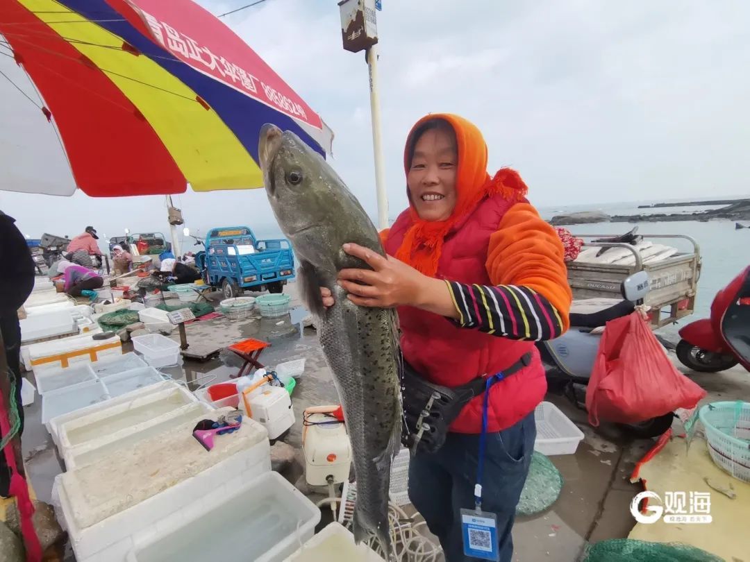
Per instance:
[[[524,285],[466,285],[446,281],[458,310],[458,326],[509,339],[555,339],[565,331],[546,297]]]

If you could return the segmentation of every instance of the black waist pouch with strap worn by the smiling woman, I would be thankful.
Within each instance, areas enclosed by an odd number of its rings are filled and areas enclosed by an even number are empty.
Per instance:
[[[526,353],[502,373],[505,377],[531,363]],[[401,442],[412,454],[435,453],[446,442],[448,428],[472,398],[484,392],[487,379],[477,377],[460,387],[444,387],[427,381],[406,361],[401,371],[406,423]]]

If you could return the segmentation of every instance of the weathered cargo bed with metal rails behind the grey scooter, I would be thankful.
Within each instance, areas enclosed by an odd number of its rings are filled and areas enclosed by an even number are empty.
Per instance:
[[[576,235],[578,238],[607,238],[612,235]],[[662,327],[692,314],[700,277],[700,247],[685,235],[643,235],[644,240],[682,238],[693,246],[692,253],[677,253],[660,262],[643,264],[640,253],[631,244],[586,242],[584,247],[627,248],[635,256],[634,265],[568,262],[568,283],[573,298],[622,298],[620,284],[637,271],[649,274],[649,292],[643,303],[651,306],[652,328]]]

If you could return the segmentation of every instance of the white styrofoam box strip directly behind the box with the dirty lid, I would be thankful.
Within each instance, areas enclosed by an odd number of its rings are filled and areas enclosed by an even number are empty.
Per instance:
[[[74,468],[90,465],[113,451],[133,447],[139,441],[178,426],[187,420],[202,417],[211,409],[208,404],[192,402],[110,434],[89,435],[91,437],[89,441],[83,441],[64,452],[61,451],[62,458],[65,460],[65,470],[71,471]]]

